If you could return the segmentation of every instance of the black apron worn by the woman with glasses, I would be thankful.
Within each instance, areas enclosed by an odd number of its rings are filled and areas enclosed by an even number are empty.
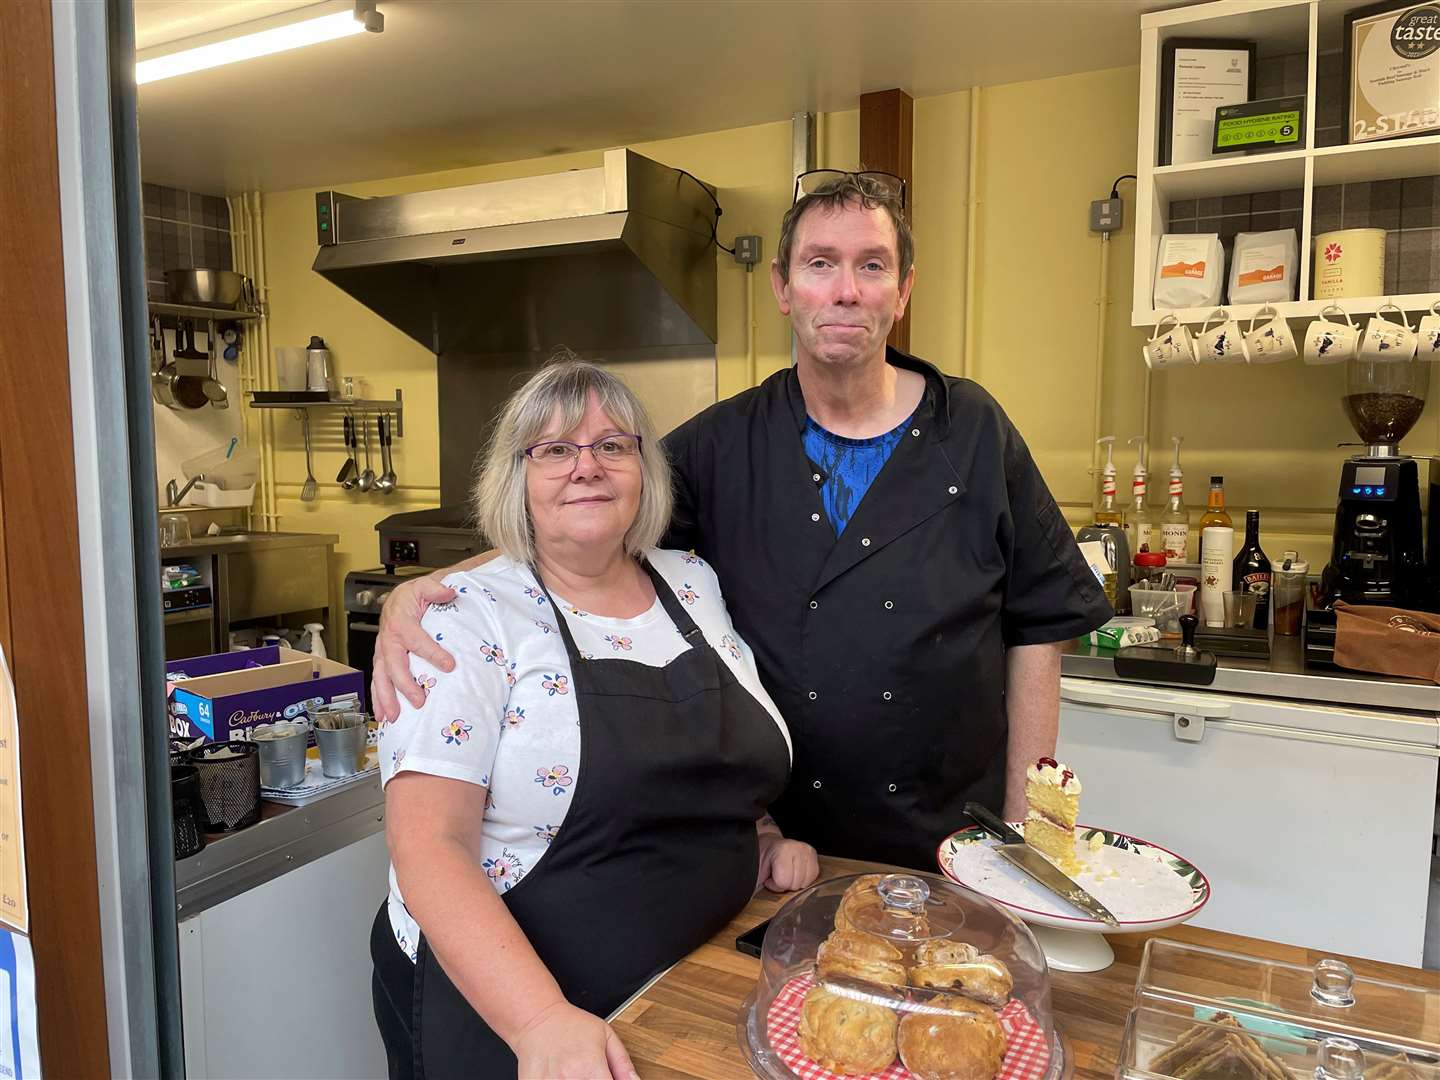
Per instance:
[[[580,714],[579,779],[550,848],[501,897],[566,999],[598,1017],[750,900],[755,822],[789,773],[775,720],[665,579],[648,562],[644,567],[690,645],[665,667],[585,660],[546,589]],[[510,1047],[455,988],[423,935],[413,966],[405,960],[384,904],[372,955],[392,1077],[516,1076]]]

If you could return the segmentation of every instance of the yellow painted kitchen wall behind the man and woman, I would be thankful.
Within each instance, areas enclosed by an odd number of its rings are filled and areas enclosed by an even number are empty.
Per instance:
[[[1117,176],[1133,171],[1138,92],[1136,68],[981,92],[979,271],[969,370],[1015,419],[1076,524],[1086,517],[1093,491],[1097,387],[1100,432],[1119,435],[1122,445],[1140,432],[1145,412],[1139,356],[1145,331],[1129,325],[1133,187],[1122,187],[1128,223],[1110,240],[1103,282],[1102,240],[1087,228],[1090,200],[1107,194]],[[965,346],[969,124],[969,92],[916,102],[912,346],[952,373],[962,369]],[[816,148],[822,166],[855,167],[858,112],[819,117]],[[639,144],[636,150],[720,189],[726,210],[721,239],[760,233],[766,261],[775,253],[779,220],[791,199],[788,121]],[[599,161],[596,150],[374,183],[336,177],[331,186],[361,196],[389,194]],[[300,503],[300,429],[289,415],[276,416],[279,527],[338,533],[343,575],[377,562],[376,520],[438,503],[435,359],[310,269],[315,253],[311,206],[310,190],[264,199],[271,343],[304,344],[310,334],[323,334],[340,374],[366,376],[372,396],[390,396],[399,387],[406,402],[405,438],[395,446],[400,490],[387,500],[346,492],[333,482],[343,461],[338,419],[333,419],[317,429],[320,500]],[[717,262],[719,390],[727,396],[749,384],[746,311],[752,287],[759,379],[789,363],[789,331],[766,274],[746,275],[723,252],[717,252]],[[1102,292],[1107,300],[1103,367],[1097,372]],[[1162,500],[1169,436],[1181,433],[1192,507],[1202,503],[1210,474],[1223,472],[1234,511],[1264,511],[1264,546],[1272,556],[1299,546],[1318,566],[1328,556],[1335,484],[1345,455],[1333,446],[1351,438],[1339,406],[1342,392],[1342,369],[1299,364],[1158,374],[1151,390],[1152,501]],[[1433,451],[1440,442],[1436,413],[1431,409],[1411,441],[1416,451]],[[1133,454],[1117,454],[1117,461],[1126,487]]]

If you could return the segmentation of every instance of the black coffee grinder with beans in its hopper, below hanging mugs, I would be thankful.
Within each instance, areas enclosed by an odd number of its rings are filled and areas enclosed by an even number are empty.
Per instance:
[[[1400,441],[1424,412],[1428,380],[1430,366],[1413,357],[1346,361],[1345,415],[1365,452],[1341,467],[1335,540],[1320,577],[1326,606],[1335,600],[1433,606],[1420,521],[1420,469],[1414,458],[1400,452]],[[1434,511],[1431,505],[1431,516]]]

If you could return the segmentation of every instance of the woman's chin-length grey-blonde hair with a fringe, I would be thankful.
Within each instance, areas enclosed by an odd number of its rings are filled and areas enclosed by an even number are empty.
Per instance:
[[[638,556],[654,547],[670,526],[670,462],[645,406],[603,367],[564,350],[505,402],[475,480],[475,524],[490,543],[516,562],[534,562],[534,527],[526,501],[526,448],[554,431],[556,410],[559,431],[575,428],[585,416],[592,390],[618,428],[641,438],[639,508],[625,531],[625,552]]]

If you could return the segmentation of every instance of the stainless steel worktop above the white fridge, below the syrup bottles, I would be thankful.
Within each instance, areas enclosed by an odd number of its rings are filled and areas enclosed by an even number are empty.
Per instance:
[[[1115,652],[1074,644],[1060,658],[1060,674],[1077,678],[1106,678],[1117,683]],[[1146,680],[1149,684],[1151,680]],[[1359,671],[1319,671],[1305,667],[1300,638],[1276,638],[1269,660],[1221,657],[1215,681],[1208,687],[1159,683],[1188,690],[1214,690],[1253,697],[1283,697],[1290,701],[1323,701],[1368,708],[1401,708],[1411,713],[1440,713],[1440,687],[1414,678],[1372,675]]]

